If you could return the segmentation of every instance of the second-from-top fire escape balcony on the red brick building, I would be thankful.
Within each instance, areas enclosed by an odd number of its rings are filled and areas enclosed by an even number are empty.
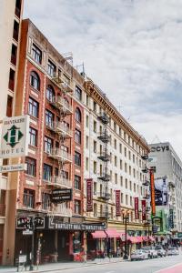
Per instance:
[[[60,111],[66,115],[73,114],[72,106],[70,106],[66,99],[61,96],[54,96],[50,104],[60,109]]]

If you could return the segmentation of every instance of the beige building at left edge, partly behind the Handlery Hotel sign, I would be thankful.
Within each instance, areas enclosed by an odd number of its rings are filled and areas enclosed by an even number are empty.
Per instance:
[[[0,121],[6,116],[15,115],[15,94],[19,60],[19,44],[23,0],[2,0],[0,3]],[[0,159],[0,165],[11,164],[10,160]],[[0,264],[9,263],[13,255],[11,242],[8,242],[7,227],[11,224],[12,207],[9,200],[14,195],[10,175],[0,174]],[[15,206],[14,206],[15,207]],[[13,208],[15,211],[15,209]]]

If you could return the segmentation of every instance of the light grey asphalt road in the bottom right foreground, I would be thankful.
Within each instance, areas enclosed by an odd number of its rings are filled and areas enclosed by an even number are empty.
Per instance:
[[[178,265],[181,264],[181,265]],[[178,270],[173,266],[178,265]],[[172,268],[171,268],[172,267]],[[145,261],[125,261],[110,263],[106,265],[92,265],[90,267],[72,268],[64,270],[65,273],[160,273],[159,270],[163,270],[161,273],[182,273],[182,255],[166,257],[166,258],[154,258]],[[169,270],[169,271],[168,271]],[[61,273],[63,271],[49,271],[49,273]]]

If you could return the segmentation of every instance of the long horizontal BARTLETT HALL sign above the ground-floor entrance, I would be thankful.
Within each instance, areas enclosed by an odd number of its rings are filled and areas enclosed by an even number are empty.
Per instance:
[[[64,229],[64,230],[85,230],[85,231],[96,231],[106,229],[106,225],[95,225],[95,224],[75,224],[75,223],[55,223],[49,218],[49,227],[51,229]]]

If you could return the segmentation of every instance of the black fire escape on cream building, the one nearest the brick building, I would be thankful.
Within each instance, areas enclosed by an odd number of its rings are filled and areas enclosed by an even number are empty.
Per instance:
[[[109,190],[108,189],[108,182],[110,181],[110,175],[108,174],[108,162],[110,160],[110,156],[108,154],[108,142],[110,140],[110,137],[108,136],[108,132],[107,132],[107,125],[109,122],[109,118],[106,115],[106,109],[103,112],[99,113],[97,118],[103,124],[102,132],[100,132],[100,135],[97,136],[97,138],[103,143],[103,148],[100,151],[99,156],[97,157],[98,159],[100,159],[103,162],[103,169],[102,169],[102,172],[100,172],[98,179],[101,180],[104,184],[103,185],[104,189],[102,189],[97,194],[97,197],[100,200],[103,200],[103,202],[105,203],[105,207],[104,207],[103,211],[100,211],[99,218],[105,220],[106,224],[107,224],[107,220],[110,217],[109,212],[108,212],[108,201],[110,199],[110,194],[108,192],[108,190]]]

